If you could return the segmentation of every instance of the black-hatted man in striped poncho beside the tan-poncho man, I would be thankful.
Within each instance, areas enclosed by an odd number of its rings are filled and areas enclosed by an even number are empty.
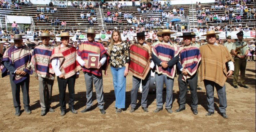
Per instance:
[[[184,46],[180,48],[180,61],[177,63],[177,71],[179,72],[178,84],[179,84],[179,109],[175,112],[185,110],[186,106],[186,90],[187,83],[189,84],[191,98],[192,98],[192,111],[193,114],[197,115],[197,68],[201,60],[200,51],[197,47],[191,45],[192,37],[191,33],[183,33]]]

